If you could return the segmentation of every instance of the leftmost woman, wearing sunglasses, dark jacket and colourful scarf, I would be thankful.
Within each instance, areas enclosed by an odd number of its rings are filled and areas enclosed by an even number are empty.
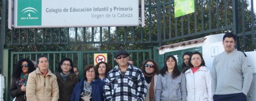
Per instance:
[[[29,59],[21,59],[17,63],[16,70],[13,72],[10,94],[15,101],[27,101],[26,98],[26,84],[28,81],[29,73],[36,68]]]

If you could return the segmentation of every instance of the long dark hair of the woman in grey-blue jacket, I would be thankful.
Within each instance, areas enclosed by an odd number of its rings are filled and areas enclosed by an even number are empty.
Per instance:
[[[180,76],[180,71],[178,69],[177,60],[173,55],[169,55],[169,56],[166,57],[166,60],[164,62],[164,66],[162,67],[162,69],[160,71],[160,74],[164,77],[165,74],[166,74],[166,71],[168,71],[168,67],[167,67],[166,62],[169,60],[170,57],[173,58],[173,60],[175,61],[175,66],[174,66],[174,69],[173,69],[173,76],[172,76],[173,79],[175,79],[176,77]]]

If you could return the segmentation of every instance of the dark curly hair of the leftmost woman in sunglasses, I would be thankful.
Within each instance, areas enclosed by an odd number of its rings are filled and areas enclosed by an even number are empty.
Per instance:
[[[17,66],[16,66],[16,70],[13,72],[12,76],[14,78],[19,78],[22,74],[22,62],[26,61],[28,63],[28,73],[31,73],[32,71],[35,71],[35,65],[33,64],[33,62],[29,59],[21,59],[17,62]]]

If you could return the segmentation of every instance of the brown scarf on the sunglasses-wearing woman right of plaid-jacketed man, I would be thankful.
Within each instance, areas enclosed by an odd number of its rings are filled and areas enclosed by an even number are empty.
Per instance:
[[[149,101],[154,101],[154,97],[155,97],[155,90],[154,90],[154,86],[155,86],[155,74],[147,74],[147,73],[143,73],[145,77],[152,77],[151,78],[151,84],[149,87]]]

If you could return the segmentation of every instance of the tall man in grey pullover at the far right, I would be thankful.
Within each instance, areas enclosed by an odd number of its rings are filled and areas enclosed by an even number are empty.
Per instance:
[[[234,49],[236,36],[226,33],[223,37],[225,51],[213,60],[212,86],[214,101],[247,101],[252,83],[252,68],[247,56]]]

